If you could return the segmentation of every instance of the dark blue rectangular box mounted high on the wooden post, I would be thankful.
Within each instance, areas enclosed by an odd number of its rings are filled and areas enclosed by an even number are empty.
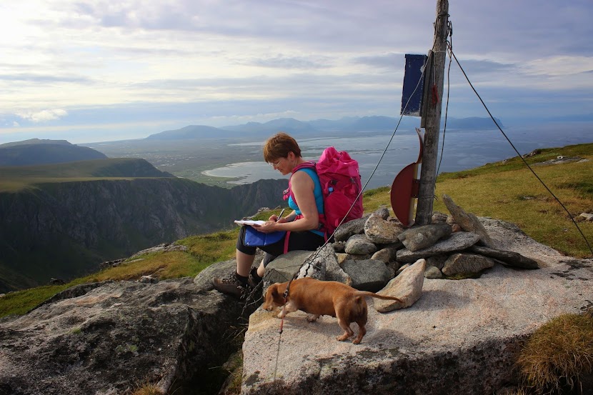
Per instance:
[[[402,89],[402,115],[422,116],[422,97],[424,96],[424,67],[426,55],[406,54],[404,87]]]

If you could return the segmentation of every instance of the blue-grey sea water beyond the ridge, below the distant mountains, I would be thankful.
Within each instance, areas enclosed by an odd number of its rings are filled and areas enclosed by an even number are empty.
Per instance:
[[[461,171],[502,161],[538,148],[561,147],[593,142],[591,124],[547,124],[503,129],[499,131],[445,131],[439,135],[439,174]],[[344,137],[299,139],[304,159],[318,159],[328,146],[338,151],[348,151],[359,162],[362,184],[365,189],[390,186],[395,176],[405,166],[414,163],[419,155],[419,138],[409,131],[404,133],[359,132]],[[512,144],[512,145],[511,145]],[[262,141],[242,143],[244,146],[262,146]],[[513,148],[514,146],[514,148]],[[250,184],[259,179],[281,179],[279,171],[261,162],[241,162],[204,171],[217,177],[238,178],[231,184]]]

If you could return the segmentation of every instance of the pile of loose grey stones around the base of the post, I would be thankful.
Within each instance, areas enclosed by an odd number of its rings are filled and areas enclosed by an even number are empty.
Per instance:
[[[514,251],[497,249],[477,216],[447,195],[450,215],[435,212],[432,224],[406,229],[382,207],[343,224],[334,243],[310,251],[290,251],[266,267],[264,289],[299,277],[340,281],[355,289],[397,296],[402,303],[376,300],[378,311],[402,309],[422,294],[424,278],[475,278],[494,264],[538,269],[537,261]],[[332,248],[333,247],[333,248]]]

